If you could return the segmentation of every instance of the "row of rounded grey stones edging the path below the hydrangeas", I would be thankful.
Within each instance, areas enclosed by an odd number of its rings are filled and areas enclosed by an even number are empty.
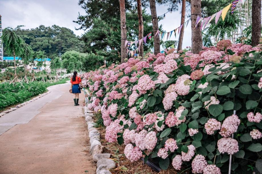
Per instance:
[[[84,90],[85,94],[88,94],[87,89]],[[85,101],[88,102],[88,98],[85,98]],[[90,139],[90,154],[92,154],[94,162],[97,162],[97,174],[111,174],[109,169],[115,169],[115,162],[110,159],[112,154],[103,153],[105,147],[101,144],[101,138],[99,131],[94,127],[95,123],[93,120],[93,112],[90,111],[86,106],[84,106],[85,121],[87,124],[87,129],[89,132]]]

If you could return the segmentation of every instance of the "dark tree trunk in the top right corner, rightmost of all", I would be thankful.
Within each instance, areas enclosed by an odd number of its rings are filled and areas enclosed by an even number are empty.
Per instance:
[[[261,37],[261,0],[252,1],[252,40],[251,45],[259,44]]]

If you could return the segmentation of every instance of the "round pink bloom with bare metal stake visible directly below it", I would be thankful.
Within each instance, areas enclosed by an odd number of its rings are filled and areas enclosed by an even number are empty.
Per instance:
[[[222,138],[217,142],[218,151],[222,154],[228,153],[233,155],[238,152],[238,141],[232,138]]]

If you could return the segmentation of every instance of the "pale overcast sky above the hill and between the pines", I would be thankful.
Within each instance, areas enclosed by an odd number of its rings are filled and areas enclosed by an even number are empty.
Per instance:
[[[162,15],[167,11],[167,6],[157,6],[157,15]],[[181,8],[179,8],[181,9]],[[150,9],[147,9],[150,13]],[[78,5],[78,0],[1,0],[0,14],[2,16],[2,27],[13,27],[24,25],[24,29],[36,28],[39,25],[58,25],[67,27],[76,35],[84,33],[83,30],[75,30],[78,24],[78,12],[84,14],[85,11]],[[180,11],[166,14],[166,18],[159,22],[163,24],[163,29],[167,32],[180,26]],[[186,19],[187,20],[187,19]],[[178,40],[171,37],[171,40]],[[183,48],[191,46],[191,23],[185,29]]]

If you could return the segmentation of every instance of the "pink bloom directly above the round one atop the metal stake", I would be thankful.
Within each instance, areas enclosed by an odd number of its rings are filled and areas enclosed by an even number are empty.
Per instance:
[[[240,119],[237,115],[227,117],[221,126],[219,134],[223,137],[230,137],[232,133],[235,133],[240,125]]]

